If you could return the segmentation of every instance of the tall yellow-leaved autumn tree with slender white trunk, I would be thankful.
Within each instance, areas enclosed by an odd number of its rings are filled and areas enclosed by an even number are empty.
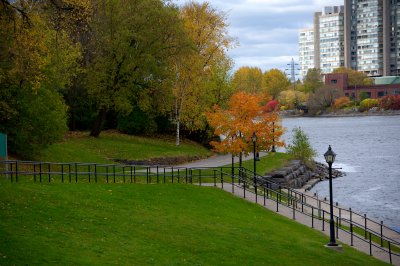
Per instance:
[[[233,43],[227,33],[226,15],[209,3],[189,2],[181,8],[180,14],[192,49],[178,55],[174,61],[176,79],[172,92],[177,146],[181,123],[191,131],[206,126],[204,111],[216,103],[207,95],[215,91],[214,99],[218,99],[219,92],[213,88],[217,85],[216,79],[227,81],[230,60],[226,51]]]

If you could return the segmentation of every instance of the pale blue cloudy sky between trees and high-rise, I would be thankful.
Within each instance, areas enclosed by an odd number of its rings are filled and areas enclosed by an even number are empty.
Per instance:
[[[175,0],[177,4],[187,1]],[[196,0],[196,2],[204,2]],[[239,45],[228,53],[234,70],[242,66],[285,71],[298,63],[299,29],[312,27],[313,14],[344,0],[208,0],[227,15],[228,32]],[[286,71],[290,73],[290,71]]]

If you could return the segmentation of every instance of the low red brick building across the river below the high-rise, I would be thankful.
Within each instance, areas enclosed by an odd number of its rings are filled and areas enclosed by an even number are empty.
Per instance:
[[[369,98],[377,99],[386,95],[400,95],[399,77],[382,77],[375,81],[374,85],[353,85],[348,84],[348,75],[326,74],[325,85],[337,88],[344,96],[351,99],[360,99],[360,94],[365,93]]]

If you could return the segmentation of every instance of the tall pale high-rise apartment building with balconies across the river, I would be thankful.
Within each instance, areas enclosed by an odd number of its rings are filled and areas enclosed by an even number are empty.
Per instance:
[[[400,0],[344,0],[315,13],[313,29],[315,60],[308,65],[300,52],[303,76],[312,67],[330,73],[340,66],[369,76],[400,75]]]

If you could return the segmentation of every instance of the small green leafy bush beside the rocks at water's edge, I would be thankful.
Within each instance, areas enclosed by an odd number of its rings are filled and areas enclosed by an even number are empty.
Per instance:
[[[317,152],[311,147],[308,136],[300,127],[293,129],[293,140],[292,144],[289,144],[286,148],[287,152],[308,166],[312,165],[314,157]]]

